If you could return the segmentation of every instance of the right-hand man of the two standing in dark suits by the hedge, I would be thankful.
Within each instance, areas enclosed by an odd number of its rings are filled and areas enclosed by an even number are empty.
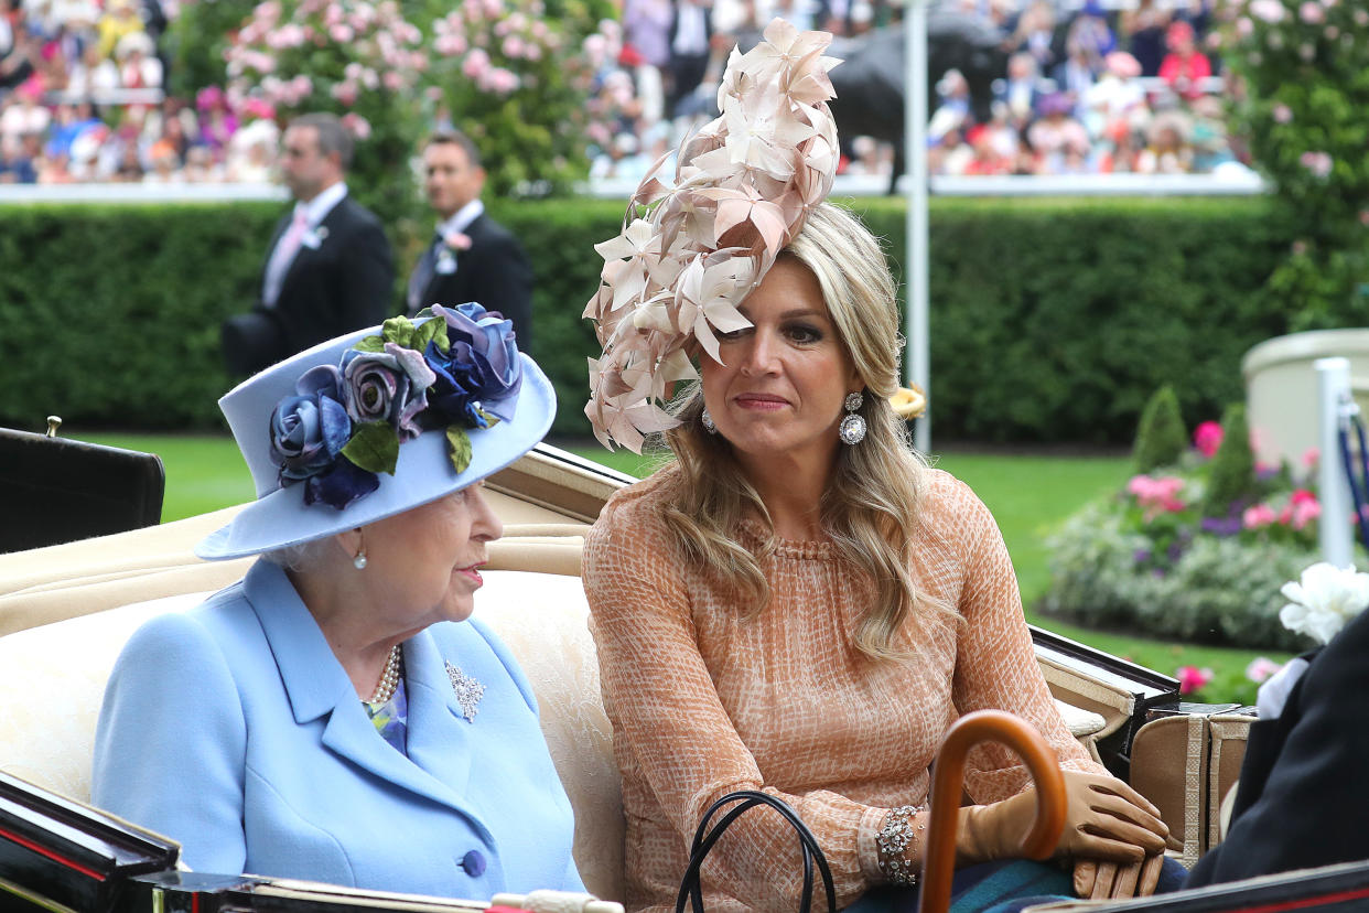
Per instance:
[[[533,267],[517,238],[485,215],[485,168],[475,144],[455,131],[431,136],[423,145],[423,174],[438,224],[409,277],[408,313],[475,301],[512,320],[517,348],[528,352]]]

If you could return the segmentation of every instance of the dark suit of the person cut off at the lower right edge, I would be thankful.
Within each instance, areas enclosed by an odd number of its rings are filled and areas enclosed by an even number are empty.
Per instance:
[[[1296,660],[1295,660],[1296,663]],[[1369,860],[1369,612],[1251,724],[1227,839],[1184,887]]]

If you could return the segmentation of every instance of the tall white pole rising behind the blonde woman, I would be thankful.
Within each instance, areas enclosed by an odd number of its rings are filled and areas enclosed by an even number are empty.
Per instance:
[[[913,423],[913,443],[932,446],[931,346],[927,333],[927,1],[904,7],[904,156],[908,168],[908,248],[904,257],[908,309],[904,376],[927,394],[927,412]]]

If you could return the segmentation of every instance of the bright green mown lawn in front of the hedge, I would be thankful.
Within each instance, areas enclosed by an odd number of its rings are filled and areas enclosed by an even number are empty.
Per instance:
[[[204,513],[253,497],[246,467],[233,441],[226,435],[79,437],[162,456],[167,472],[163,522]],[[567,449],[634,475],[648,474],[656,461],[627,450],[608,453],[593,441],[589,445],[570,445]],[[1092,631],[1043,619],[1032,612],[1032,604],[1050,583],[1046,537],[1082,504],[1120,486],[1129,472],[1125,457],[949,452],[938,454],[935,463],[964,479],[998,519],[1013,557],[1013,567],[1017,569],[1023,602],[1028,606],[1028,620],[1168,675],[1173,675],[1181,665],[1212,668],[1217,678],[1199,697],[1209,701],[1253,699],[1254,686],[1244,680],[1246,665],[1257,656],[1251,650],[1190,646],[1129,634]],[[1269,657],[1276,661],[1287,658],[1281,654]]]

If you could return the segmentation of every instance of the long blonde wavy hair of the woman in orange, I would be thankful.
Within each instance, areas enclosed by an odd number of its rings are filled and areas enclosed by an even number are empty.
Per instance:
[[[904,620],[914,609],[938,606],[924,606],[928,601],[920,598],[908,571],[927,464],[888,402],[898,389],[902,344],[894,279],[879,241],[856,216],[828,203],[809,214],[780,256],[802,263],[817,278],[841,344],[865,385],[860,408],[865,439],[838,448],[820,516],[841,556],[865,571],[878,590],[860,619],[857,647],[875,658],[898,657],[895,635]],[[683,554],[720,572],[743,598],[743,610],[753,615],[769,602],[769,584],[758,556],[739,545],[732,531],[749,512],[767,523],[769,515],[732,459],[731,445],[704,430],[702,411],[702,387],[694,382],[672,407],[682,423],[665,433],[680,485],[664,520]],[[772,532],[764,554],[776,542]]]

